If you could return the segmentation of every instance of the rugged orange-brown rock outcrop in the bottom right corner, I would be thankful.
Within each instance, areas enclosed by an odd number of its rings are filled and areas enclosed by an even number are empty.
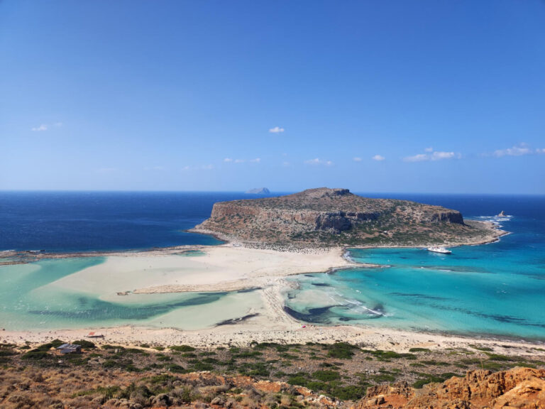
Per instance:
[[[379,408],[545,408],[545,371],[515,368],[509,371],[469,371],[414,390],[402,383],[375,386],[353,409]]]

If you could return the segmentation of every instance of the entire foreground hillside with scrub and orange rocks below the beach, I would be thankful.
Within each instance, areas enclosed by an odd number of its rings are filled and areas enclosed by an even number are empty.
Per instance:
[[[59,354],[57,339],[0,342],[0,408],[545,407],[545,350],[537,347],[398,353],[343,342],[217,349],[73,342],[81,354]]]

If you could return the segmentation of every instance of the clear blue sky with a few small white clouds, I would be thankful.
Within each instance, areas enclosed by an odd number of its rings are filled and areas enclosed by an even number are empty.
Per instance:
[[[545,193],[545,1],[0,1],[0,189]]]

